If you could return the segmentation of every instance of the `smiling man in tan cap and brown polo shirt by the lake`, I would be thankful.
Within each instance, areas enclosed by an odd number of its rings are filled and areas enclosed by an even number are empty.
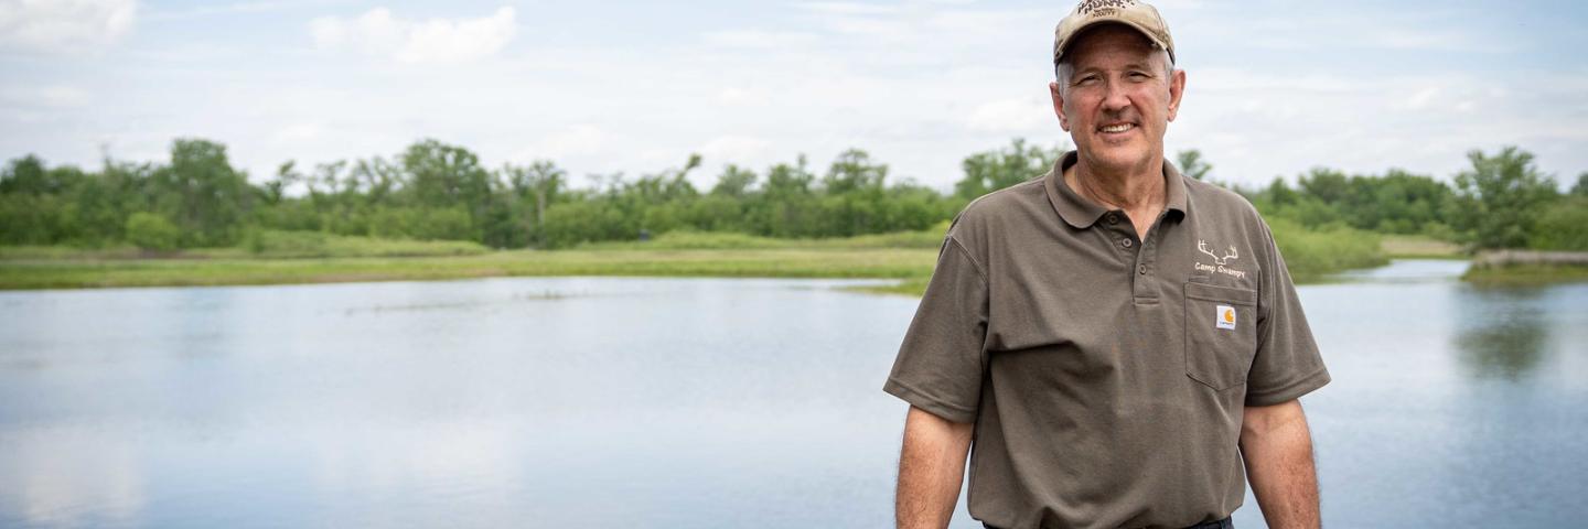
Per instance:
[[[885,386],[899,526],[948,523],[973,443],[989,527],[1231,527],[1243,470],[1270,527],[1318,527],[1296,399],[1329,373],[1258,213],[1164,164],[1169,27],[1081,2],[1053,57],[1075,151],[954,219]]]

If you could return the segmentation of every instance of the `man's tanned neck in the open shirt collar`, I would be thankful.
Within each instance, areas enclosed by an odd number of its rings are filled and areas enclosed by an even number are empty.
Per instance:
[[[1142,167],[1104,172],[1086,164],[1085,157],[1064,170],[1064,183],[1081,195],[1108,210],[1124,210],[1135,224],[1135,234],[1147,238],[1147,230],[1158,221],[1169,202],[1164,187],[1164,162],[1154,157]]]

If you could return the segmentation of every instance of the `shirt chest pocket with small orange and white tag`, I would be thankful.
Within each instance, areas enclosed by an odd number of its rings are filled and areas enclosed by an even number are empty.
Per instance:
[[[1247,383],[1258,351],[1258,292],[1185,284],[1186,376],[1223,391]]]

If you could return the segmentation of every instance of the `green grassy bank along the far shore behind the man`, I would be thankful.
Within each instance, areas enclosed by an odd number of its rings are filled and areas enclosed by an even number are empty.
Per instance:
[[[483,276],[892,278],[870,292],[919,295],[946,226],[827,240],[672,232],[649,241],[557,251],[489,251],[472,243],[275,234],[246,248],[149,254],[133,248],[0,248],[0,289],[430,281]],[[1299,278],[1383,262],[1359,232],[1275,237]]]

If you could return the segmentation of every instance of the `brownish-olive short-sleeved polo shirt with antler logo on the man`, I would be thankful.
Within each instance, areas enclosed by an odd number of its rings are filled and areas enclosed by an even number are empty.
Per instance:
[[[1048,175],[977,199],[883,388],[975,423],[994,527],[1185,527],[1245,496],[1242,410],[1329,381],[1285,261],[1240,195],[1164,164],[1147,238]]]

